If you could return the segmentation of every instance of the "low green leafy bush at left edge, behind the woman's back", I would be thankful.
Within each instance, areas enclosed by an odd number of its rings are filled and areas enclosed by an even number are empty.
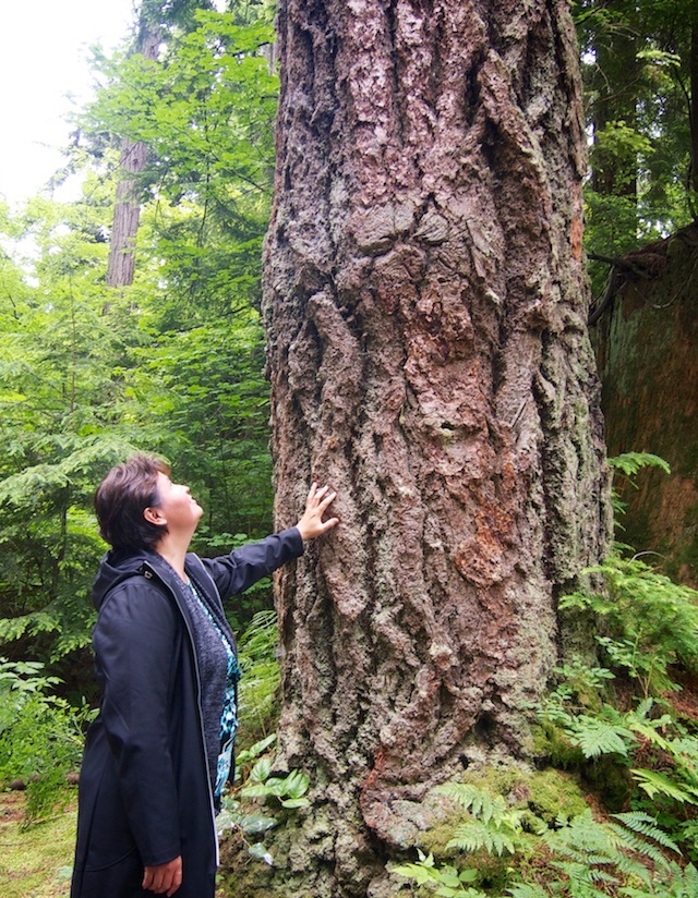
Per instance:
[[[77,768],[82,726],[91,715],[51,694],[58,684],[43,665],[0,658],[0,780],[26,784],[26,824],[69,799],[65,776]]]

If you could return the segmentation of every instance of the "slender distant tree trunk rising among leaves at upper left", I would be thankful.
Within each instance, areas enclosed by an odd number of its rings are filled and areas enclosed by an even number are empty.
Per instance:
[[[145,7],[144,7],[145,8]],[[134,52],[146,59],[156,60],[163,39],[163,28],[158,22],[147,23],[142,11],[142,21]],[[148,27],[146,27],[148,24]],[[147,147],[142,141],[124,137],[119,159],[119,181],[113,208],[113,223],[107,263],[107,286],[129,287],[135,271],[135,240],[141,220],[141,195],[143,187],[140,174],[147,162]]]

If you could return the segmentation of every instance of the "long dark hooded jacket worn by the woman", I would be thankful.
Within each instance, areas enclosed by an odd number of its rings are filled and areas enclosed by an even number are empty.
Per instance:
[[[217,610],[303,551],[296,527],[229,556],[186,556]],[[156,553],[108,553],[95,581],[93,633],[101,689],[80,778],[71,898],[132,898],[143,867],[182,855],[177,898],[213,898],[217,839],[191,620]]]

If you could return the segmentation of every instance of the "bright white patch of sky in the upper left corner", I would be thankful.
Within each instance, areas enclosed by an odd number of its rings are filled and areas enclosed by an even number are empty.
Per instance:
[[[62,117],[91,97],[89,47],[128,36],[134,0],[22,0],[0,20],[0,198],[15,205],[61,166]]]

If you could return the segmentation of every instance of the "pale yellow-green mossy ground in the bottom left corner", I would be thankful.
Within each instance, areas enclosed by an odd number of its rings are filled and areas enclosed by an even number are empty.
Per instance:
[[[63,898],[70,894],[75,847],[75,804],[22,829],[24,796],[0,792],[0,895]]]

